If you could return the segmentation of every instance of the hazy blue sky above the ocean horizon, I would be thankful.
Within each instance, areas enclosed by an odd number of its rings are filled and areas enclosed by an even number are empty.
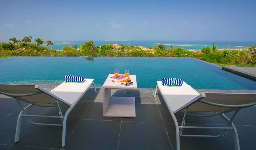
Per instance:
[[[256,41],[256,0],[1,0],[0,40]]]

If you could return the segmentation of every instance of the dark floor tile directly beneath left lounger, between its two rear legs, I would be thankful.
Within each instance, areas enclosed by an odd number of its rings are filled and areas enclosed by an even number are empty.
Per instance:
[[[70,137],[78,122],[77,119],[67,120],[66,140]],[[15,146],[62,148],[61,141],[62,126],[35,125],[19,142],[15,143]]]

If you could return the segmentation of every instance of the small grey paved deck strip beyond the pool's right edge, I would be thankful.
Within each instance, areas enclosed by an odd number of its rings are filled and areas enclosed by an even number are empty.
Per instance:
[[[222,67],[222,70],[256,81],[256,67]]]

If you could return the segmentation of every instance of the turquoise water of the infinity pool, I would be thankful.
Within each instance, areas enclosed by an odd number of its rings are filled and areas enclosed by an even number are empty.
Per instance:
[[[182,78],[194,89],[256,90],[256,82],[195,58],[12,57],[0,59],[1,84],[59,84],[65,75],[84,75],[102,86],[118,68],[137,76],[138,88],[155,88],[162,78]]]

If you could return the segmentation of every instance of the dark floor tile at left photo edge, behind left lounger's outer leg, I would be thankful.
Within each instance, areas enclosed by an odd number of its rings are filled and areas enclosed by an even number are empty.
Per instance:
[[[1,120],[0,123],[0,144],[14,144],[17,115],[8,115],[6,118]],[[23,136],[30,128],[33,126],[32,123],[27,123],[27,121],[22,118],[20,127],[20,137]]]

